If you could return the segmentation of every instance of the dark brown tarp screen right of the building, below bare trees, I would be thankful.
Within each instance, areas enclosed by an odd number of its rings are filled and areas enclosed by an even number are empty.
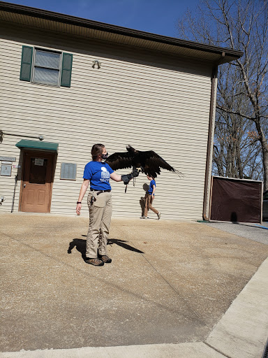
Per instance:
[[[212,177],[210,220],[262,222],[262,182]]]

